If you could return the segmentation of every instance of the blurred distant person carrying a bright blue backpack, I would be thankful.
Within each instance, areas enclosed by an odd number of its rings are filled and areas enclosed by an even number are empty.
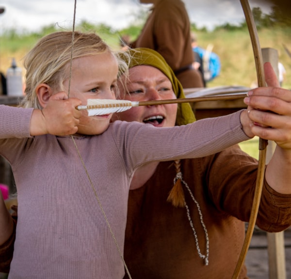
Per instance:
[[[199,47],[197,42],[197,36],[194,32],[191,32],[191,46],[194,52],[195,69],[201,72],[204,84],[216,78],[221,69],[221,63],[219,56],[212,52],[213,45],[209,44],[206,49]]]

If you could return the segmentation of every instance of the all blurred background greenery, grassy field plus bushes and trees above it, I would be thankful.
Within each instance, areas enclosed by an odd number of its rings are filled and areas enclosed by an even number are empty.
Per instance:
[[[280,18],[279,12],[275,9],[271,15],[263,15],[259,9],[254,9],[253,13],[258,25],[260,46],[278,50],[279,61],[284,64],[287,71],[283,87],[291,88],[291,58],[283,47],[284,45],[291,51],[291,24],[287,26],[287,19]],[[129,27],[118,31],[106,24],[93,25],[87,21],[82,21],[75,29],[96,31],[113,49],[119,49],[121,36],[129,35],[130,41],[133,41],[142,30],[146,14],[141,11],[140,15],[142,18],[137,18]],[[206,27],[197,28],[196,24],[192,23],[191,29],[198,37],[198,44],[203,48],[212,44],[213,51],[221,60],[221,74],[210,81],[208,87],[226,85],[250,87],[256,82],[253,50],[245,21],[239,25],[226,23],[217,26],[213,31],[208,31]],[[16,58],[17,63],[20,62],[39,38],[60,30],[64,29],[57,25],[49,25],[38,33],[25,31],[17,33],[14,29],[3,31],[0,35],[0,71],[6,72],[12,57]]]

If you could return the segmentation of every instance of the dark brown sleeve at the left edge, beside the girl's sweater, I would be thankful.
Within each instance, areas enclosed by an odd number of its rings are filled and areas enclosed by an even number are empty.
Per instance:
[[[12,217],[14,224],[13,233],[5,243],[0,245],[0,272],[3,273],[9,273],[10,263],[12,261],[14,251],[17,216],[14,214]]]

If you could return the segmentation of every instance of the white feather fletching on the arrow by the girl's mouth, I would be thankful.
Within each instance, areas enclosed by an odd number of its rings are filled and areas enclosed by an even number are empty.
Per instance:
[[[88,110],[88,116],[94,116],[121,112],[137,106],[138,102],[127,100],[88,99],[87,106],[78,106],[77,109],[86,109]]]

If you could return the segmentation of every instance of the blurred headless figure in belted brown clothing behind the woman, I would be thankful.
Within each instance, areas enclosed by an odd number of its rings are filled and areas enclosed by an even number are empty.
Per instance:
[[[130,47],[147,47],[159,52],[174,71],[183,88],[204,87],[193,67],[190,20],[181,0],[139,0],[152,3],[140,35]]]

